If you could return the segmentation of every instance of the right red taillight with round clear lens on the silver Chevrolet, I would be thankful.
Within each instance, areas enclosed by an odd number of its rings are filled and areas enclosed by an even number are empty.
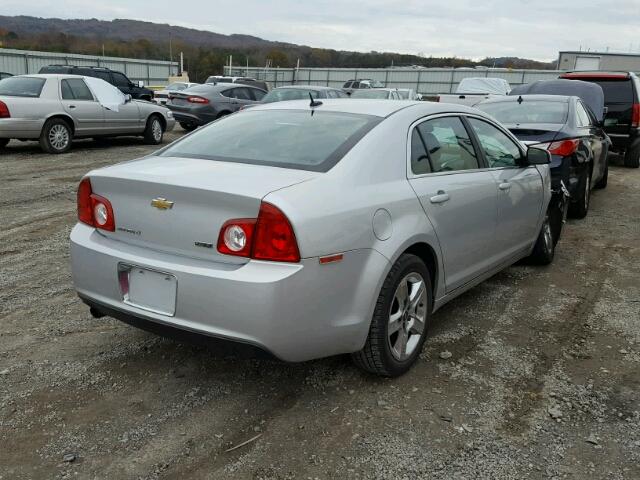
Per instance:
[[[266,202],[260,204],[258,218],[225,222],[218,236],[218,251],[255,260],[300,261],[298,242],[289,219]]]

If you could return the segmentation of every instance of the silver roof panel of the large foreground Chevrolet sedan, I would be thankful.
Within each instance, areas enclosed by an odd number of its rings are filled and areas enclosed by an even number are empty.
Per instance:
[[[373,115],[376,117],[388,117],[405,108],[419,107],[424,115],[436,113],[480,113],[475,108],[465,105],[419,102],[414,100],[369,100],[359,99],[357,102],[348,99],[322,99],[322,105],[315,107],[316,111],[352,113],[357,115]],[[273,102],[256,105],[247,111],[257,110],[310,110],[308,100],[290,100],[285,102]]]

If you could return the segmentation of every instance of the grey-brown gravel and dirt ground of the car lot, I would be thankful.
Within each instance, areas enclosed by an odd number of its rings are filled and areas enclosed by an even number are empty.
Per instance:
[[[612,167],[553,265],[447,305],[383,380],[93,319],[69,270],[77,183],[151,150],[0,153],[0,478],[640,478],[640,170]]]

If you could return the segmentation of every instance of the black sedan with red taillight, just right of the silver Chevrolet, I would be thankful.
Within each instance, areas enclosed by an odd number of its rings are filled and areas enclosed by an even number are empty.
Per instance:
[[[607,186],[610,140],[596,115],[577,96],[514,95],[476,108],[492,115],[518,139],[551,153],[551,188],[570,195],[569,214],[584,218],[592,188]]]

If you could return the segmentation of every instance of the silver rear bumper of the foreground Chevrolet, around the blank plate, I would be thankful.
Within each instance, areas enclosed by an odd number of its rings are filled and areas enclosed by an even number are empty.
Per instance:
[[[71,263],[80,297],[105,313],[248,343],[294,362],[361,349],[389,268],[386,258],[368,249],[326,265],[317,258],[222,264],[132,246],[83,224],[71,232]],[[120,263],[174,275],[175,315],[125,303]]]

